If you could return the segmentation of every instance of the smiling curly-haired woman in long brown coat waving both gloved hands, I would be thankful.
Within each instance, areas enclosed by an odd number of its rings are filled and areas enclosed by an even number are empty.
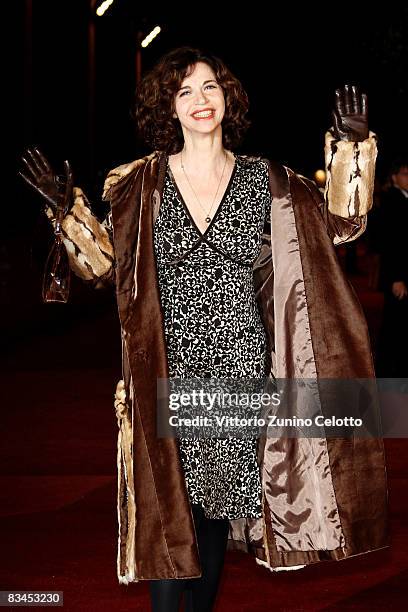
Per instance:
[[[62,224],[72,269],[116,284],[118,578],[149,579],[154,610],[177,610],[186,587],[189,609],[211,610],[227,543],[270,570],[388,545],[380,439],[355,439],[351,450],[343,438],[156,435],[158,378],[374,377],[364,316],[334,250],[364,231],[371,206],[366,97],[336,91],[325,198],[279,164],[234,154],[247,109],[219,58],[171,51],[137,98],[140,134],[155,151],[109,173],[103,224],[79,188]],[[55,223],[49,164],[36,150],[24,161]]]

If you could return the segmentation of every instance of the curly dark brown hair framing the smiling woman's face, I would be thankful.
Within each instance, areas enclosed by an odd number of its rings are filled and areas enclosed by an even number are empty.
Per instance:
[[[251,121],[245,118],[249,108],[247,93],[224,62],[200,49],[179,47],[159,59],[136,91],[133,115],[137,131],[141,139],[155,150],[174,154],[183,148],[181,125],[173,118],[175,95],[197,62],[210,66],[224,92],[223,146],[227,149],[237,147],[251,125]]]

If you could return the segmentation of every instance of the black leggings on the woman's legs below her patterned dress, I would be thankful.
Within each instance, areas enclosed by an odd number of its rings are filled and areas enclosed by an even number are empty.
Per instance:
[[[185,612],[211,612],[224,565],[228,519],[208,519],[201,506],[192,504],[202,575],[200,578],[150,580],[153,612],[179,612],[185,591]]]

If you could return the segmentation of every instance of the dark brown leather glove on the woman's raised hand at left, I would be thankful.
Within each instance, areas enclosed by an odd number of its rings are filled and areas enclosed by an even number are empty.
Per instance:
[[[24,168],[19,175],[25,182],[47,201],[54,212],[63,203],[66,211],[72,203],[73,183],[69,162],[64,161],[65,176],[59,176],[36,147],[27,148],[21,159]]]

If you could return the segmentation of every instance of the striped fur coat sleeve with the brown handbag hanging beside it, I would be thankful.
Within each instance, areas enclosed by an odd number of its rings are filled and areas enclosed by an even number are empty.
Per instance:
[[[53,210],[45,213],[55,227]],[[95,288],[115,283],[115,256],[111,211],[100,222],[79,187],[74,187],[74,204],[62,221],[63,242],[71,270]]]

